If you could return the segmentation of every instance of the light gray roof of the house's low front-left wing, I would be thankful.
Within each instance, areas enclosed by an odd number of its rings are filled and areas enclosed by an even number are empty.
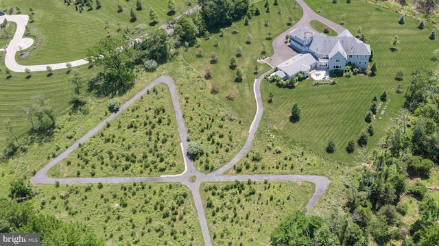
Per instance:
[[[316,58],[314,58],[310,53],[301,53],[289,58],[285,62],[282,62],[277,67],[279,70],[291,77],[296,73],[309,71],[309,69],[311,69],[311,65],[316,62]]]

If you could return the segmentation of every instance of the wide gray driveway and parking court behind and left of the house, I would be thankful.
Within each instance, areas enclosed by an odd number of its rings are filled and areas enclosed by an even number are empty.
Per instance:
[[[288,46],[288,44],[285,42],[285,36],[289,34],[292,30],[305,26],[314,32],[322,32],[314,30],[311,25],[309,24],[311,21],[320,21],[321,23],[324,23],[328,27],[331,27],[335,32],[340,34],[344,31],[344,27],[341,25],[338,25],[337,23],[333,21],[329,21],[328,19],[318,15],[316,12],[311,10],[309,6],[305,3],[303,0],[296,0],[297,3],[300,5],[300,7],[303,10],[303,16],[300,21],[296,22],[292,27],[287,29],[285,32],[274,38],[273,40],[273,49],[274,54],[270,57],[270,59],[267,60],[272,66],[277,66],[278,64],[281,64],[282,62],[285,62],[285,60],[288,60],[289,58],[292,58],[292,56],[295,56],[297,53],[294,51],[291,47]],[[341,13],[340,13],[341,14]]]

